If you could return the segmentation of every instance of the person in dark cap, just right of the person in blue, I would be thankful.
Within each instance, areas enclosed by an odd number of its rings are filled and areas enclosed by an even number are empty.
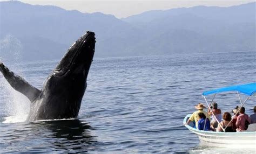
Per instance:
[[[210,109],[208,109],[208,115],[211,116],[212,120],[211,120],[211,125],[212,125],[212,129],[214,130],[215,128],[218,127],[218,122],[217,120],[220,122],[221,121],[221,110],[218,109],[218,103],[213,102],[212,103],[212,107],[211,107],[212,111]],[[213,116],[216,117],[214,117]]]

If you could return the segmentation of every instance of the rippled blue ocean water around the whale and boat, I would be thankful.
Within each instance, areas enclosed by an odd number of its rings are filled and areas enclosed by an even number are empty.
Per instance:
[[[37,88],[58,62],[3,61]],[[96,58],[77,119],[30,123],[28,99],[0,74],[0,152],[255,153],[200,146],[183,125],[204,90],[255,82],[255,64],[255,51]],[[223,112],[239,105],[232,94],[216,101]]]

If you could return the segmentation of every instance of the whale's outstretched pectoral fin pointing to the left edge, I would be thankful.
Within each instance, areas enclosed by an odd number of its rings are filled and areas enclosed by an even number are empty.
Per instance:
[[[24,94],[32,102],[41,93],[41,90],[31,86],[21,76],[14,74],[3,63],[0,62],[0,71],[3,73],[4,78],[10,83],[11,87],[18,92]]]

